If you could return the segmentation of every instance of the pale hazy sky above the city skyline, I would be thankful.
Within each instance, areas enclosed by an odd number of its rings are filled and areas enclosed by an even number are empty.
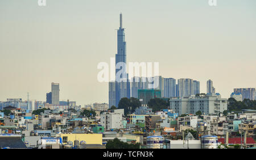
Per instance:
[[[55,82],[60,100],[108,103],[97,64],[117,53],[120,12],[127,62],[159,62],[202,93],[211,79],[225,98],[256,87],[255,0],[0,0],[0,101],[46,101]]]

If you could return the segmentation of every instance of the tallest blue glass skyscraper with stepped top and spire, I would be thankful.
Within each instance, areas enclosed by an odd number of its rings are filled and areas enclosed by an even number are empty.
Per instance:
[[[120,25],[117,31],[117,54],[115,54],[115,96],[113,96],[113,94],[109,94],[109,103],[113,103],[113,101],[115,101],[114,106],[117,107],[121,98],[130,98],[131,96],[130,81],[128,79],[129,75],[126,72],[126,41],[125,29],[122,27],[122,21],[122,14],[120,14]],[[111,93],[113,93],[113,84],[109,84],[109,86],[112,87]],[[109,104],[109,106],[110,105],[111,104]]]

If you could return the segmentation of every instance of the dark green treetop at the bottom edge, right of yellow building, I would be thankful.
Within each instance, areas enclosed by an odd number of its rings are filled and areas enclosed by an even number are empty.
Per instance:
[[[114,140],[109,140],[106,144],[106,149],[139,149],[140,144],[128,144],[115,138]]]

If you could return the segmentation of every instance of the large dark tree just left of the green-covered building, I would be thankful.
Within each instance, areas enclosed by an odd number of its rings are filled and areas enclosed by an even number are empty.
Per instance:
[[[118,109],[124,109],[124,114],[133,113],[137,107],[141,106],[141,102],[137,98],[121,98],[118,103]]]

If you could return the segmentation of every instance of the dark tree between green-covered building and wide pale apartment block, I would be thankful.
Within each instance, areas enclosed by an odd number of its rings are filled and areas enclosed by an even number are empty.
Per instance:
[[[152,109],[153,112],[160,111],[162,109],[168,109],[169,107],[168,101],[165,101],[161,98],[154,98],[148,101],[148,107]]]

